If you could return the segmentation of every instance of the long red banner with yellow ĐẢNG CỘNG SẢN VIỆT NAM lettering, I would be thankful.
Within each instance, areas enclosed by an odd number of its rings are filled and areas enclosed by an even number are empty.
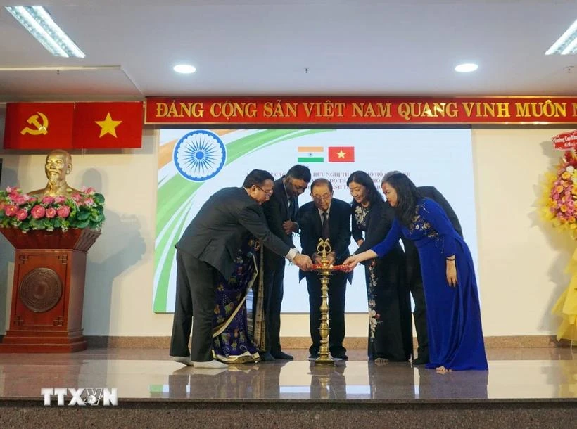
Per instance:
[[[146,124],[577,123],[577,97],[148,98]]]

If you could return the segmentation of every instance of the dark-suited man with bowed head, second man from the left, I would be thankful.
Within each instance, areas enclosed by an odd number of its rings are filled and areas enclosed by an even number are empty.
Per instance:
[[[270,231],[284,243],[293,247],[293,233],[298,232],[296,214],[298,196],[305,192],[310,182],[310,169],[304,165],[294,165],[286,174],[274,181],[274,193],[262,205]],[[264,312],[265,350],[260,356],[264,361],[293,357],[281,349],[281,305],[284,294],[285,260],[274,252],[265,250],[264,267]]]

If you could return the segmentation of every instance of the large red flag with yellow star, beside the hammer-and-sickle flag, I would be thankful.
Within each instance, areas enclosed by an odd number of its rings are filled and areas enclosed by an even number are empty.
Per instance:
[[[142,115],[141,101],[76,103],[73,147],[140,148]]]

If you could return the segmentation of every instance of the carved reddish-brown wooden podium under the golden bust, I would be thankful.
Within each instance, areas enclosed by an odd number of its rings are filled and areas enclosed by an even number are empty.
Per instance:
[[[82,306],[87,251],[100,231],[0,228],[15,248],[10,326],[0,352],[67,353],[87,348]]]

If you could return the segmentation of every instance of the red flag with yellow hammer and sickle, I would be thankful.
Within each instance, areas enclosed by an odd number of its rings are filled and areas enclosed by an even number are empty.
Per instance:
[[[74,103],[7,103],[4,148],[71,149]]]

